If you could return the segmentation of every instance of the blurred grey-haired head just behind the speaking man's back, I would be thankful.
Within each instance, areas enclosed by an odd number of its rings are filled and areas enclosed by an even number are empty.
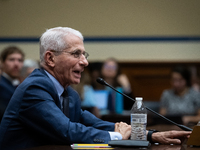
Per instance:
[[[33,59],[26,59],[21,70],[21,82],[36,68],[39,68],[39,62]]]

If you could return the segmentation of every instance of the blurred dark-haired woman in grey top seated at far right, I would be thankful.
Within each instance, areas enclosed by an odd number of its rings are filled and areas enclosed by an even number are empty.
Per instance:
[[[160,114],[182,116],[184,124],[197,123],[200,120],[200,94],[191,88],[191,73],[177,66],[171,73],[172,88],[161,96]]]

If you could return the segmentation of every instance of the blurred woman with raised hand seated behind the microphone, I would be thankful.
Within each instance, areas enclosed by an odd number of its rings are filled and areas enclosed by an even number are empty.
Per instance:
[[[108,58],[105,60],[101,69],[101,75],[108,84],[117,88],[120,92],[132,97],[132,90],[128,77],[125,74],[120,73],[116,59]],[[116,102],[118,97],[121,99],[120,101],[122,101],[121,105],[124,105],[122,106],[122,109],[130,110],[132,108],[133,102],[130,99],[123,97],[110,88],[106,87],[106,89],[111,93],[109,98],[110,103],[108,106],[111,112],[116,112],[115,107],[117,107],[116,105],[120,103],[119,101]]]

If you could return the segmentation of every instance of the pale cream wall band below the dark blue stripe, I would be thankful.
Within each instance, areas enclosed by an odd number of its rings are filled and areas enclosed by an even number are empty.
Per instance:
[[[38,43],[0,43],[0,52],[17,45],[26,58],[39,60]],[[200,62],[200,42],[86,42],[89,62],[115,57],[120,62]]]

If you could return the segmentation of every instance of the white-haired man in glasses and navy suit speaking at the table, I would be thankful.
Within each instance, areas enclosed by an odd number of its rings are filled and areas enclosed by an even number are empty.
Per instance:
[[[103,121],[81,110],[79,95],[70,85],[80,82],[88,56],[79,31],[56,27],[43,33],[42,68],[35,69],[15,90],[0,126],[1,150],[108,143],[130,137],[130,125]],[[180,138],[190,134],[166,131],[149,137],[153,142],[180,144]]]

